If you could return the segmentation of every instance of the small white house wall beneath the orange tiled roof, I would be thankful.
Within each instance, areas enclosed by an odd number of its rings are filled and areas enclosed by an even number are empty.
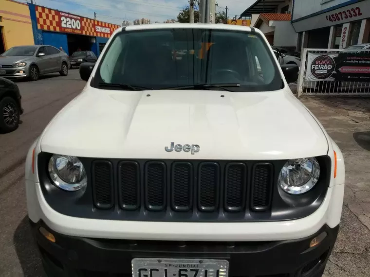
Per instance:
[[[290,21],[270,21],[270,26],[275,27],[274,46],[296,47],[298,34]]]

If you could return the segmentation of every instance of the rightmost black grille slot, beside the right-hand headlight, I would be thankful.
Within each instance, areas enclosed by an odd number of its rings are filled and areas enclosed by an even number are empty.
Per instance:
[[[252,176],[252,209],[265,211],[270,208],[273,166],[269,163],[256,164]]]

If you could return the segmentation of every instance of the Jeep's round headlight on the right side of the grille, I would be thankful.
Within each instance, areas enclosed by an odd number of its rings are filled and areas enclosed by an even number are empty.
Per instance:
[[[320,166],[315,158],[289,160],[280,171],[278,184],[289,194],[302,194],[316,185]]]

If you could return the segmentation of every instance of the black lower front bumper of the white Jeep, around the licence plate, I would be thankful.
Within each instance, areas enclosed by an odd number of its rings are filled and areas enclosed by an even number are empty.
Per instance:
[[[333,249],[339,225],[324,225],[312,236],[270,242],[178,242],[94,239],[56,233],[30,221],[48,276],[130,276],[133,258],[225,259],[230,277],[319,277]],[[56,242],[40,232],[44,227]],[[309,247],[312,239],[325,239]],[[232,237],[230,238],[232,240]]]

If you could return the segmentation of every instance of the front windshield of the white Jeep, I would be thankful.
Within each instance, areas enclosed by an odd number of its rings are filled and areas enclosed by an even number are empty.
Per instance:
[[[107,84],[151,89],[236,84],[230,89],[268,91],[281,87],[281,76],[273,54],[256,33],[157,29],[115,35],[92,85],[111,89]]]

